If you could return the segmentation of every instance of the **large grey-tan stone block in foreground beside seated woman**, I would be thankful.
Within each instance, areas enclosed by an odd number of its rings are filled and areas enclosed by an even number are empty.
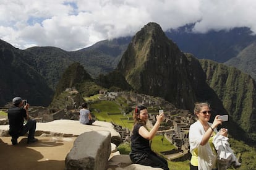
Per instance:
[[[108,167],[111,134],[106,130],[85,132],[74,142],[66,156],[66,169],[103,170]]]

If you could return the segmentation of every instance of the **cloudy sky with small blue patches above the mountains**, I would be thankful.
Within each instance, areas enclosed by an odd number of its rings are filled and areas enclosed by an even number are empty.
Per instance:
[[[194,32],[249,27],[254,0],[0,0],[0,39],[16,48],[56,46],[66,51],[133,36],[148,22],[163,30],[195,23]]]

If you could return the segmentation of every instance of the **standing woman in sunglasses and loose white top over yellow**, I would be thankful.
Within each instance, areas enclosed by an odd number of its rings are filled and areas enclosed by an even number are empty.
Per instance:
[[[194,114],[197,122],[190,125],[189,128],[189,145],[190,153],[190,170],[215,169],[216,168],[216,151],[213,145],[213,138],[217,134],[216,127],[222,123],[218,116],[215,116],[213,123],[208,122],[211,117],[210,104],[195,103]],[[221,135],[226,136],[227,131],[221,130]]]

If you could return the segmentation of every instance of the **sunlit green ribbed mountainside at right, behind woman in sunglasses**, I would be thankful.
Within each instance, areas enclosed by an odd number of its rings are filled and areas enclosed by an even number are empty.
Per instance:
[[[200,63],[207,75],[208,85],[222,101],[231,120],[245,132],[256,135],[255,80],[234,67],[205,59]]]

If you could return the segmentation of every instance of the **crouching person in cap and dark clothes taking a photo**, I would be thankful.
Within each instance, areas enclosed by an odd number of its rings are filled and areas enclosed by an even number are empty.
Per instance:
[[[8,109],[8,119],[9,119],[9,134],[11,135],[12,145],[16,145],[18,143],[17,139],[27,134],[28,132],[28,140],[27,143],[37,142],[38,139],[35,138],[35,129],[36,129],[36,121],[30,119],[28,114],[29,104],[26,100],[22,100],[20,97],[15,97],[12,99],[12,108]],[[24,124],[24,119],[27,120],[27,123]]]

